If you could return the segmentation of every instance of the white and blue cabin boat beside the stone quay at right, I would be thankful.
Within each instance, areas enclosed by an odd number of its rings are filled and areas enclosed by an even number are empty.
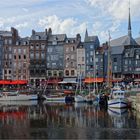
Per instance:
[[[128,107],[128,100],[123,90],[114,90],[111,92],[108,100],[109,108],[126,108]]]

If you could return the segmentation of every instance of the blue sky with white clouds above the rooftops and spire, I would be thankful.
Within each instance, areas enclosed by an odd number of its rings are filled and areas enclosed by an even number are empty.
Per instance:
[[[140,37],[140,0],[130,0],[133,37]],[[127,34],[129,0],[1,0],[0,30],[15,27],[21,37],[32,29],[52,28],[54,34],[66,33],[82,40],[86,28],[100,42]]]

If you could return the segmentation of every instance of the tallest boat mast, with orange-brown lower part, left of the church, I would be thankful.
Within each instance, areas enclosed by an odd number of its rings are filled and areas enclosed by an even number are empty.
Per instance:
[[[107,86],[110,89],[112,86],[112,63],[111,63],[111,48],[110,48],[110,31],[109,33],[109,41],[108,41],[108,66],[107,66]]]

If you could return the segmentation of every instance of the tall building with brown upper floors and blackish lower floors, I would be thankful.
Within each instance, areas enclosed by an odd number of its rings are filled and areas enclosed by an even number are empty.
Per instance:
[[[35,86],[46,79],[47,34],[47,29],[44,32],[32,30],[29,41],[30,84]]]

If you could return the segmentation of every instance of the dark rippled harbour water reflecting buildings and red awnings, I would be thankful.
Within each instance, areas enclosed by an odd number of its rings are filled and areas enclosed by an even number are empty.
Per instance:
[[[0,138],[139,138],[131,110],[106,110],[86,103],[0,104]]]

